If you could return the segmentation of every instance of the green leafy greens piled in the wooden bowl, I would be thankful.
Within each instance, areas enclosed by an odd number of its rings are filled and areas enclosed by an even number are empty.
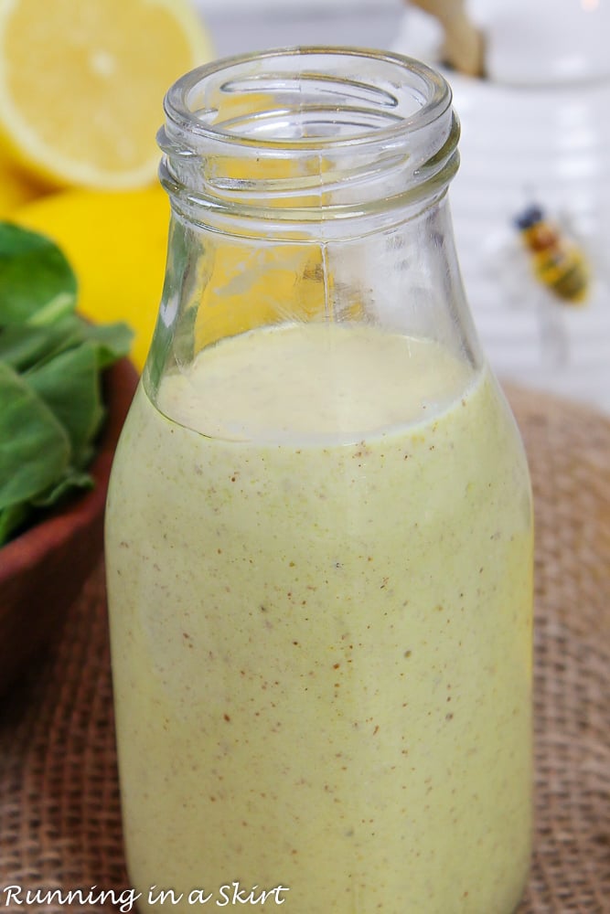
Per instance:
[[[102,370],[128,354],[132,332],[87,323],[76,303],[58,246],[0,222],[0,547],[37,510],[93,485]]]

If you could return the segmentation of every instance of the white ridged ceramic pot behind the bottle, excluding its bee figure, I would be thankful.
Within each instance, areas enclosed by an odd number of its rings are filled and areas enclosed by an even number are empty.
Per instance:
[[[510,2],[519,7],[520,0]],[[476,6],[489,23],[507,3]],[[574,0],[553,3],[561,18]],[[545,4],[530,4],[532,16]],[[540,29],[540,20],[531,28]],[[479,334],[498,374],[610,412],[610,58],[600,62],[592,50],[591,70],[583,70],[577,51],[590,34],[585,30],[573,44],[578,75],[566,79],[565,32],[556,27],[553,39],[552,31],[539,61],[523,58],[528,41],[515,48],[515,70],[506,41],[497,43],[496,80],[444,71],[462,123],[462,165],[451,188],[455,236]],[[511,34],[507,29],[505,39]],[[409,9],[394,49],[438,66],[439,46],[435,23]],[[519,81],[519,74],[538,81]],[[534,278],[514,225],[534,202],[590,260],[581,307],[561,303]]]

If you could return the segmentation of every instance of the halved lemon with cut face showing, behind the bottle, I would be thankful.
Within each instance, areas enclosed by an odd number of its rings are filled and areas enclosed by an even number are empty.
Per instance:
[[[53,186],[144,186],[166,90],[212,56],[188,0],[0,0],[0,143]]]

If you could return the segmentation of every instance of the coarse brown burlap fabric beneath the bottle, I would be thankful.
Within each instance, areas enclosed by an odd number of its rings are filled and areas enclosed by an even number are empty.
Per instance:
[[[530,457],[537,515],[537,828],[519,914],[604,914],[610,912],[610,421],[538,394],[511,391],[511,400]],[[128,879],[102,568],[70,611],[57,647],[0,713],[0,890],[97,886],[118,894]],[[0,908],[27,910],[6,905],[6,894]],[[30,908],[115,909],[110,903]]]

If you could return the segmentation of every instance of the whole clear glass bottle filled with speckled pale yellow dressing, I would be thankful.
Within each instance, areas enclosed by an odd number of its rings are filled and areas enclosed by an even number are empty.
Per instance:
[[[530,484],[455,259],[450,90],[278,50],[178,80],[159,137],[166,283],[107,512],[139,905],[509,914]]]

